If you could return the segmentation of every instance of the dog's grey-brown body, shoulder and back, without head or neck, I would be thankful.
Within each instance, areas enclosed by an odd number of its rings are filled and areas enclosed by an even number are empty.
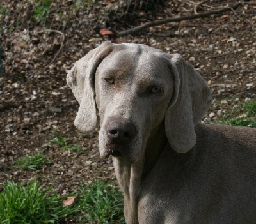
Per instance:
[[[166,146],[143,180],[139,220],[255,223],[256,129],[197,124],[195,130],[191,151]]]

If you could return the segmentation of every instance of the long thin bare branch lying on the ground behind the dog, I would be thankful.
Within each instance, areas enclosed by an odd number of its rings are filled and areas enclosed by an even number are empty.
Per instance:
[[[228,7],[228,8],[223,8],[223,9],[217,10],[217,11],[209,11],[207,13],[202,13],[202,14],[186,15],[184,17],[176,17],[176,18],[170,18],[170,19],[163,19],[163,20],[159,20],[159,21],[147,22],[146,24],[143,24],[141,26],[137,26],[137,27],[134,27],[132,29],[127,29],[126,31],[119,32],[119,33],[117,33],[117,35],[118,36],[125,36],[127,34],[136,33],[138,31],[142,31],[143,29],[147,29],[148,27],[159,26],[159,25],[162,25],[162,24],[166,24],[168,22],[180,22],[180,21],[183,21],[183,20],[190,20],[190,19],[209,17],[210,15],[218,15],[218,14],[221,14],[221,13],[223,13],[225,11],[230,10],[230,9],[236,10],[236,8],[240,4],[241,3],[237,3],[237,4],[234,4],[231,7]]]

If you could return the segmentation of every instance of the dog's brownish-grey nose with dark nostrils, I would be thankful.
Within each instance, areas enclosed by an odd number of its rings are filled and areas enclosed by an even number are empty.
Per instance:
[[[108,137],[114,143],[128,143],[136,134],[136,127],[131,121],[111,121],[107,127]]]

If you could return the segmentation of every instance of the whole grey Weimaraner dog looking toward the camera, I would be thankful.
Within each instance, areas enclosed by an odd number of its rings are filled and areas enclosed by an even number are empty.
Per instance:
[[[200,124],[212,94],[179,54],[106,41],[67,82],[79,130],[99,112],[128,224],[256,223],[256,129]]]

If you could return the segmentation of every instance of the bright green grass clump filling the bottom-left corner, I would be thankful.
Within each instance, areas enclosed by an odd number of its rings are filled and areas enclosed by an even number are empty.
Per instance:
[[[26,186],[7,181],[2,184],[0,193],[0,223],[2,224],[40,224],[58,223],[76,212],[76,208],[63,207],[61,197],[53,193],[49,195],[49,188],[45,190],[36,180]]]

